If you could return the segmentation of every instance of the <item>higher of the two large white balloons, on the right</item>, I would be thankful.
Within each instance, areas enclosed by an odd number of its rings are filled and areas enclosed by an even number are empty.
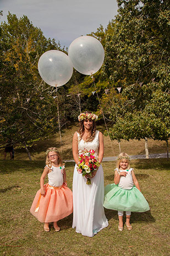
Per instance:
[[[82,74],[94,74],[100,70],[105,51],[100,41],[92,36],[80,36],[69,46],[68,56],[75,70]]]

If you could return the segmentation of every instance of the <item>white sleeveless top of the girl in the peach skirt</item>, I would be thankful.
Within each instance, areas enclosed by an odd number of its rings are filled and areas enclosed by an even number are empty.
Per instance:
[[[54,167],[51,168],[48,167],[50,170],[52,170],[51,173],[48,173],[48,184],[51,186],[61,186],[63,185],[63,170],[64,166]]]

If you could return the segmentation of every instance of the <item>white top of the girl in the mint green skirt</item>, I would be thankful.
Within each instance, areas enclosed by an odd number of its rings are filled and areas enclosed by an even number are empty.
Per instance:
[[[115,170],[118,170],[118,168],[116,168]],[[133,182],[133,178],[131,175],[132,170],[133,170],[133,168],[130,168],[129,170],[118,170],[119,172],[127,173],[126,177],[120,176],[120,181],[119,181],[118,186],[121,189],[132,189],[133,188],[134,182]]]

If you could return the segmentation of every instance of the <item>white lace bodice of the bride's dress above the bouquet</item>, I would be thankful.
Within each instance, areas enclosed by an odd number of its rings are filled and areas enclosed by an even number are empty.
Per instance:
[[[78,132],[77,132],[78,134]],[[83,153],[84,150],[94,150],[95,151],[95,154],[94,156],[95,157],[98,157],[98,146],[99,146],[99,138],[98,138],[98,135],[99,135],[99,131],[96,131],[96,134],[95,134],[95,138],[93,141],[84,141],[83,138],[81,138],[80,140],[80,135],[78,134],[78,150],[79,150],[79,154]]]

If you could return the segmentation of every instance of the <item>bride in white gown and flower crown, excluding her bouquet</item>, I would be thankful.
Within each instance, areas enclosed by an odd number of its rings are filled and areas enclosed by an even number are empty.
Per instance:
[[[103,135],[96,130],[97,116],[85,111],[78,116],[80,129],[73,136],[73,157],[79,163],[79,154],[84,150],[94,150],[95,157],[102,162],[104,145]],[[103,209],[104,178],[102,165],[92,177],[79,174],[75,164],[73,175],[73,228],[83,236],[93,237],[98,231],[108,226]],[[87,185],[91,178],[91,185]]]

